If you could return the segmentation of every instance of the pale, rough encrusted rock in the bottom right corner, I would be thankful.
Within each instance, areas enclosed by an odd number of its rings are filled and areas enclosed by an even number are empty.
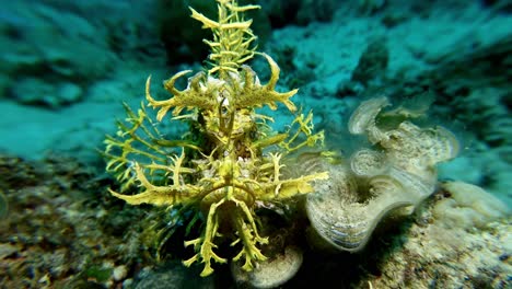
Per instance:
[[[454,217],[450,213],[445,216],[435,213],[444,210],[446,203],[457,203],[454,196],[445,190],[450,187],[450,190],[455,192],[456,186],[473,185],[443,183],[439,194],[423,203],[411,222],[403,227],[396,238],[388,240],[387,244],[393,248],[382,255],[376,274],[369,275],[358,284],[358,287],[366,288],[369,282],[373,288],[510,287],[512,274],[510,217],[496,213],[484,217],[475,213],[476,218],[486,220],[485,224],[475,229],[454,223]],[[481,188],[472,189],[480,190],[477,194],[481,197],[493,199],[492,195]],[[458,190],[463,192],[467,192],[467,188]],[[502,208],[503,204],[499,207]],[[461,212],[464,208],[457,210]]]

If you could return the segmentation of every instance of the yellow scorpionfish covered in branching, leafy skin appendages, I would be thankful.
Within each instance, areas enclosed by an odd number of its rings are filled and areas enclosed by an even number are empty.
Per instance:
[[[213,41],[205,41],[211,47],[211,68],[189,78],[185,90],[176,89],[175,82],[191,71],[173,76],[164,82],[172,96],[163,101],[151,96],[148,78],[146,99],[148,106],[158,109],[156,120],[143,105],[137,113],[125,105],[128,117],[117,123],[116,136],[107,136],[104,152],[106,170],[121,183],[119,193],[110,190],[114,196],[130,205],[186,206],[201,216],[200,235],[185,241],[196,254],[184,261],[187,266],[202,263],[201,276],[213,271],[212,262],[228,261],[214,252],[221,238],[231,239],[232,246],[240,247],[233,261],[243,262],[245,270],[265,261],[259,247],[268,239],[258,233],[258,206],[311,193],[313,181],[328,177],[326,172],[282,177],[281,159],[303,147],[322,144],[323,131],[314,132],[312,113],[296,113],[284,132],[269,130],[266,122],[274,119],[256,114],[255,108],[267,105],[276,109],[281,103],[295,112],[290,97],[298,90],[276,91],[278,65],[252,46],[256,38],[249,28],[252,21],[244,20],[242,13],[259,7],[240,7],[232,0],[217,2],[218,21],[190,9],[191,16],[213,33]],[[265,57],[270,66],[266,84],[244,65],[255,55]],[[170,111],[173,119],[189,124],[190,132],[184,139],[168,140],[158,129]],[[140,193],[124,194],[136,185]]]

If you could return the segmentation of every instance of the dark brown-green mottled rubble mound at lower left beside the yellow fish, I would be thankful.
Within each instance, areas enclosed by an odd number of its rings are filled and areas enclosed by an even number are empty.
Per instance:
[[[141,216],[106,213],[120,203],[79,163],[0,155],[0,174],[9,201],[0,219],[0,288],[113,287],[136,262],[148,263],[125,232],[124,222]]]

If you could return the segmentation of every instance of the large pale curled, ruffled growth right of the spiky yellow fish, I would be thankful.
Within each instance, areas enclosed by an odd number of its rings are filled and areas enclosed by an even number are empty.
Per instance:
[[[316,232],[344,251],[360,251],[389,213],[410,213],[434,192],[435,164],[458,152],[458,141],[446,129],[419,128],[399,109],[382,112],[387,105],[386,97],[376,97],[352,114],[350,132],[365,135],[375,148],[356,151],[349,167],[317,159],[301,162],[331,175],[315,184],[306,210]]]

